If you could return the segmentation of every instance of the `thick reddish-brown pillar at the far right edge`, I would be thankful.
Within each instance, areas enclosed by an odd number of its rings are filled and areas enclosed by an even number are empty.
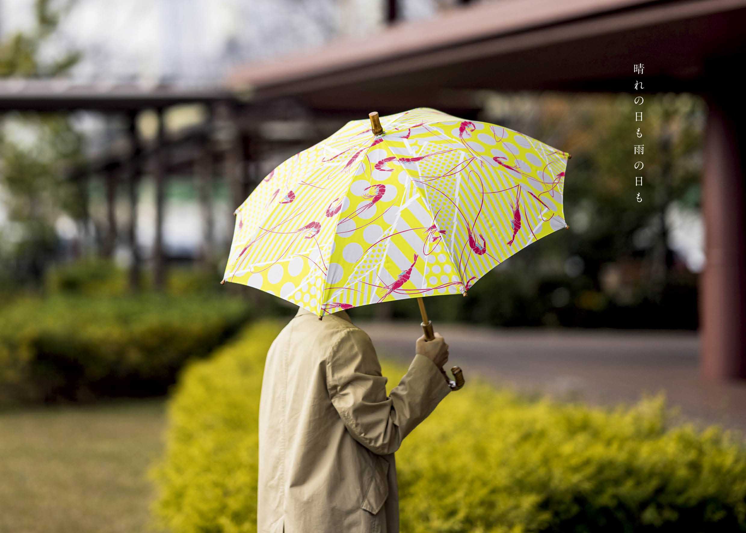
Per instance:
[[[706,266],[700,280],[702,375],[714,382],[746,377],[746,113],[741,95],[719,78],[706,97]]]

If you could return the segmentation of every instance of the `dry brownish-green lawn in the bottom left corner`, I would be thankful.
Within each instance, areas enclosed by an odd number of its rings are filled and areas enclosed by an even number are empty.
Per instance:
[[[163,400],[0,411],[0,533],[152,531]]]

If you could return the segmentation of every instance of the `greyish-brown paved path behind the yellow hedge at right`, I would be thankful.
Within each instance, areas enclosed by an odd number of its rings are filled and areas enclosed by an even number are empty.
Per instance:
[[[381,354],[409,361],[419,324],[356,322]],[[592,403],[634,402],[664,392],[686,417],[746,429],[746,381],[704,383],[695,332],[489,329],[437,324],[467,384],[482,376],[522,391]]]

